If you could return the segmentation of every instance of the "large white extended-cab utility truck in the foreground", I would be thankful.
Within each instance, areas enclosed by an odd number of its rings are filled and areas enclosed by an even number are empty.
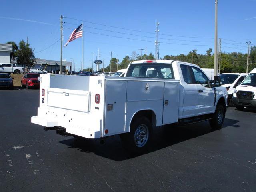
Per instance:
[[[210,81],[200,67],[175,60],[134,61],[127,69],[125,77],[41,75],[31,122],[66,136],[120,134],[133,152],[147,148],[158,126],[204,120],[222,126],[227,90],[219,76]]]

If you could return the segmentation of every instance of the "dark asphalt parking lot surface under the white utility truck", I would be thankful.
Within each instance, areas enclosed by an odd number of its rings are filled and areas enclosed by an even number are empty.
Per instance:
[[[39,90],[0,90],[0,191],[256,191],[256,110],[228,108],[208,122],[156,132],[150,151],[118,136],[77,140],[30,123]]]

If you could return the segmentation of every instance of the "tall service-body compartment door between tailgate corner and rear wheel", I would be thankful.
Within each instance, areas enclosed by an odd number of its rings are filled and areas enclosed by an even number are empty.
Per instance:
[[[105,126],[102,135],[114,135],[125,130],[126,81],[106,80]]]

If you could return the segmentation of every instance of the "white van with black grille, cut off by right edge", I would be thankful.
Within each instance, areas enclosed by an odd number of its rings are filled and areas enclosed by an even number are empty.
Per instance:
[[[256,108],[256,68],[238,85],[233,94],[232,102],[238,110],[244,107]]]

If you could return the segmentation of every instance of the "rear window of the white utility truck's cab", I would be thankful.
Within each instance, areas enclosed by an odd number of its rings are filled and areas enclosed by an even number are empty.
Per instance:
[[[126,77],[174,79],[171,64],[131,64]]]

